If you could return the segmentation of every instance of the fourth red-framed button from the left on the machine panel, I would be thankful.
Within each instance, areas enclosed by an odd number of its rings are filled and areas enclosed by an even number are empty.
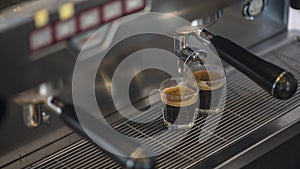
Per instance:
[[[104,4],[102,7],[103,21],[108,22],[123,15],[122,1],[117,0]]]

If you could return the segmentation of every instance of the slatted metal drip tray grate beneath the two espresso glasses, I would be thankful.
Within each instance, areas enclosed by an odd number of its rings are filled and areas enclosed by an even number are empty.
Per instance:
[[[300,42],[285,44],[264,57],[288,69],[300,79]],[[226,146],[264,126],[270,121],[300,106],[300,92],[288,100],[276,100],[254,82],[235,69],[227,73],[227,98],[224,112],[220,115],[201,117],[180,144],[157,157],[157,168],[188,168],[195,162],[214,155]],[[160,111],[159,106],[156,111]],[[145,117],[144,117],[145,118]],[[219,121],[215,130],[205,124]],[[213,126],[213,125],[209,125]],[[177,134],[152,137],[163,130],[161,119],[139,124],[121,121],[115,127],[119,132],[135,137],[150,138],[149,147],[159,150],[176,141]],[[199,133],[202,137],[199,140]],[[167,138],[167,139],[166,139]],[[81,140],[28,168],[121,168],[91,142]]]

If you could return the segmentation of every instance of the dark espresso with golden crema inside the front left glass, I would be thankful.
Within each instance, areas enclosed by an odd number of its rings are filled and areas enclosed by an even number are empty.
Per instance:
[[[165,124],[186,125],[194,120],[198,98],[193,89],[174,86],[163,90],[163,116]]]

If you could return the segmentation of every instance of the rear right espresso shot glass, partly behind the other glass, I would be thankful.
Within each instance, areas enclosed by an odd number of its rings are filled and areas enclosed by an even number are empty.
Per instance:
[[[193,65],[190,67],[199,88],[199,115],[220,112],[221,98],[226,83],[224,69],[218,65]]]

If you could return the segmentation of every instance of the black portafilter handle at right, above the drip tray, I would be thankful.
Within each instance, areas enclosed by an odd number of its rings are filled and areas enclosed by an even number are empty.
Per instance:
[[[298,83],[290,72],[257,57],[224,37],[207,30],[203,30],[203,33],[214,45],[220,58],[244,73],[273,97],[288,99],[296,93]]]

